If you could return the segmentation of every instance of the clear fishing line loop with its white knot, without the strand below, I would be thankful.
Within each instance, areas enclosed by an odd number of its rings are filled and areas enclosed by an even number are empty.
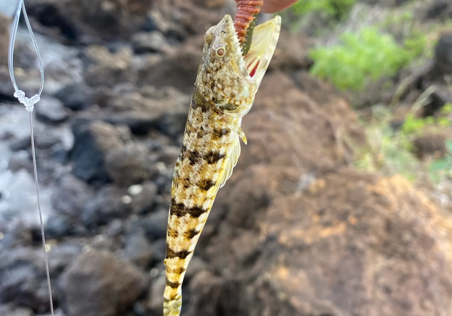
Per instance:
[[[20,12],[24,13],[25,23],[27,24],[28,32],[31,35],[33,40],[34,49],[36,51],[36,55],[38,55],[38,63],[39,69],[41,72],[41,86],[39,88],[39,92],[33,95],[31,98],[25,96],[25,92],[19,90],[17,87],[16,80],[14,78],[14,67],[13,67],[13,57],[14,57],[14,44],[16,42],[17,36],[17,28],[19,27],[19,18]],[[39,53],[38,44],[36,43],[36,39],[34,38],[33,30],[31,29],[30,21],[28,20],[27,11],[25,10],[24,0],[19,0],[17,5],[16,14],[14,15],[14,21],[11,28],[11,34],[9,36],[9,52],[8,52],[8,66],[9,66],[9,76],[11,77],[11,81],[14,86],[14,97],[19,100],[20,103],[25,105],[25,108],[28,112],[32,112],[34,108],[34,104],[37,104],[41,99],[42,89],[44,88],[44,67],[42,66],[41,54]]]

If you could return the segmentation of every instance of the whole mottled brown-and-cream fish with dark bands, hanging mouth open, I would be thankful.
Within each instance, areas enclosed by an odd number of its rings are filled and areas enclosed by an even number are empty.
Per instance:
[[[242,57],[233,20],[226,15],[204,39],[201,62],[174,168],[166,237],[164,316],[179,316],[182,283],[218,190],[240,155],[242,117],[278,42],[281,18],[254,28],[253,45]]]

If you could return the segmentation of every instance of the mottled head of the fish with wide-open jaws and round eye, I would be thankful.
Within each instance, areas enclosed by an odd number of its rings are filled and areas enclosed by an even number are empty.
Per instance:
[[[281,17],[257,25],[246,56],[234,21],[229,14],[207,30],[197,89],[222,113],[234,118],[244,116],[254,103],[254,96],[273,57],[281,30]]]

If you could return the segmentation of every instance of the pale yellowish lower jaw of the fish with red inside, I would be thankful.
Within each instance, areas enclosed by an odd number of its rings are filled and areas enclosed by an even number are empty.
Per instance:
[[[254,27],[250,50],[243,57],[246,70],[257,86],[267,71],[281,31],[281,17],[275,16]]]

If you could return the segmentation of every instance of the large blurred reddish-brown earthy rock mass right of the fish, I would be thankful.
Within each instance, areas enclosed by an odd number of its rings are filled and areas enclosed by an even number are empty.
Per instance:
[[[297,77],[310,96],[268,75],[244,119],[248,145],[201,237],[211,267],[190,283],[186,315],[451,315],[436,205],[400,176],[349,170],[341,140],[363,137],[353,111]]]

